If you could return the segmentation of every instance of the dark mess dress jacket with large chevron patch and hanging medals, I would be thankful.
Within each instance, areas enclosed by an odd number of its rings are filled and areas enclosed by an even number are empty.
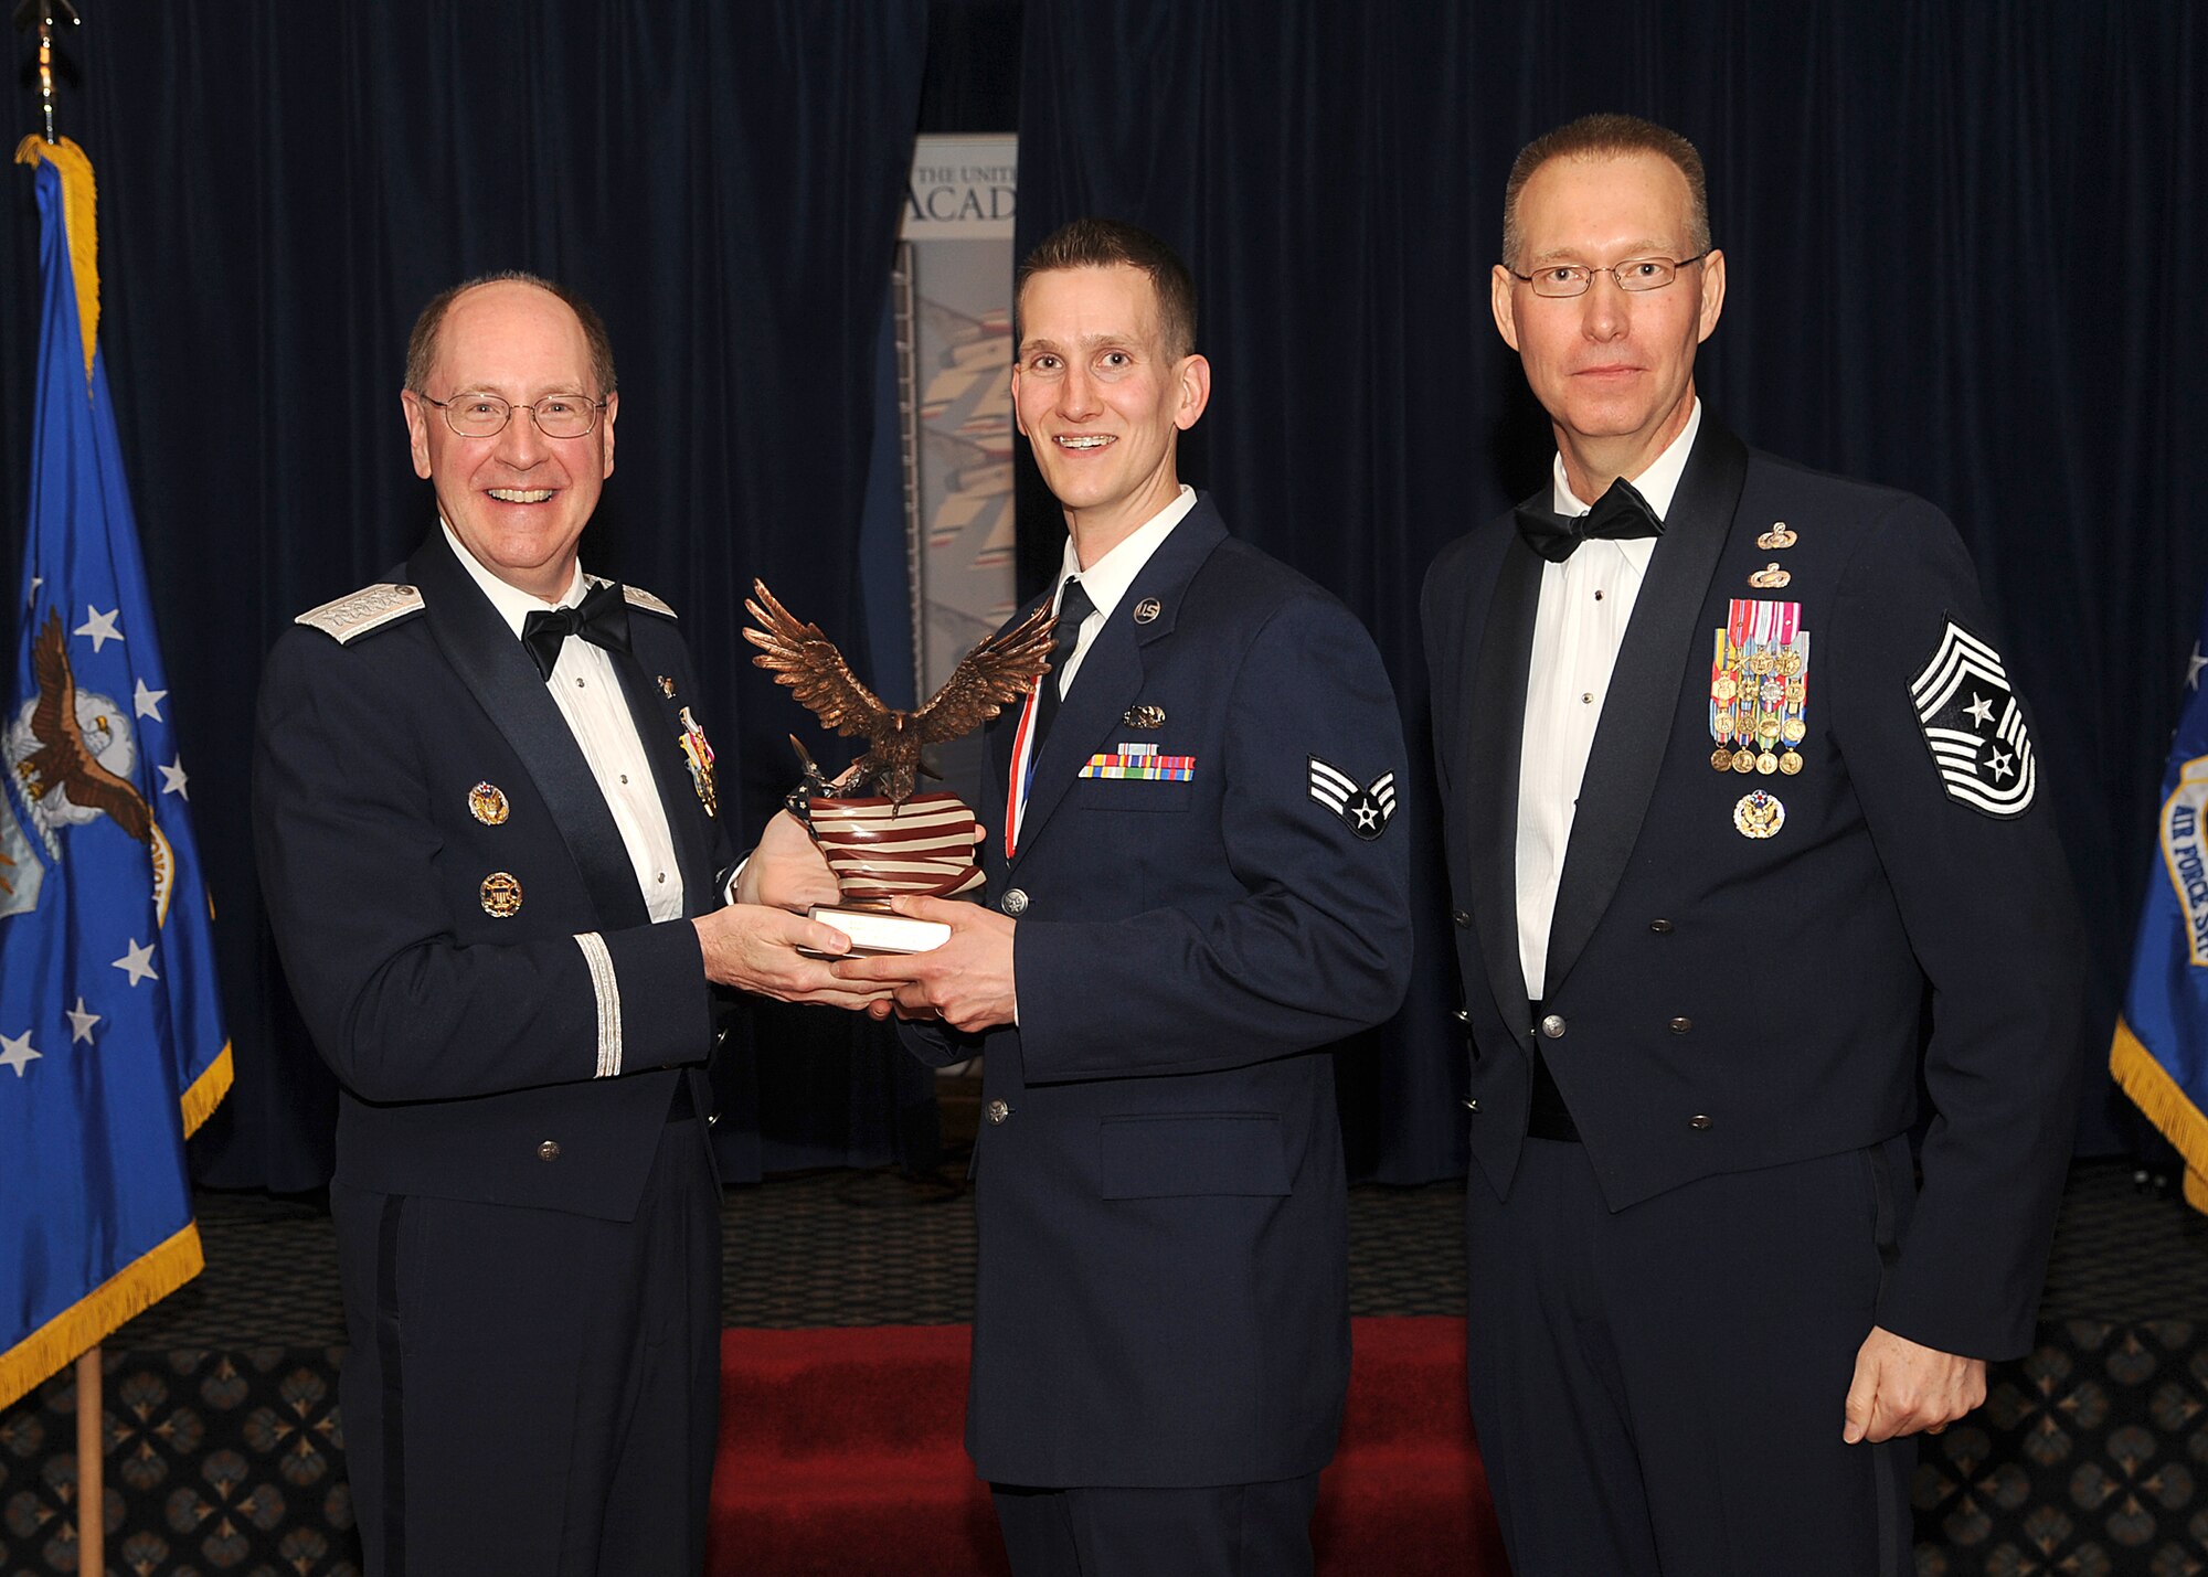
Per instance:
[[[1758,543],[1777,528],[1793,546]],[[1537,1034],[1614,1210],[1879,1144],[1912,1126],[1921,1082],[1923,1186],[1879,1323],[2027,1352],[2082,1069],[2080,928],[1954,528],[1705,413],[1588,758],[1537,1023],[1515,848],[1541,563],[1504,515],[1424,588],[1475,1164],[1508,1195]],[[1773,568],[1784,585],[1749,583]],[[1795,775],[1711,766],[1735,599],[1800,603],[1811,632]],[[1965,696],[1985,707],[1958,716]],[[1758,791],[1782,806],[1766,837],[1742,830],[1769,826],[1742,811]]]

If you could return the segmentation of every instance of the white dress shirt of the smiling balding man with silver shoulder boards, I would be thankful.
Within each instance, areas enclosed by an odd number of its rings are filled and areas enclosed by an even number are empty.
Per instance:
[[[574,607],[590,590],[583,565],[576,565],[567,592],[556,603],[545,603],[477,563],[450,526],[444,526],[444,539],[461,568],[484,588],[490,605],[499,610],[499,618],[512,627],[514,641],[521,638],[521,623],[532,612]],[[620,842],[629,850],[645,908],[654,921],[682,919],[682,861],[676,857],[667,806],[660,804],[660,786],[651,775],[645,742],[636,733],[636,718],[620,691],[620,678],[614,674],[612,654],[583,636],[567,636],[545,689],[552,691],[552,705],[559,707],[574,742],[583,749],[590,775],[598,782],[598,793],[605,795],[605,808],[614,813],[614,826],[620,828]]]

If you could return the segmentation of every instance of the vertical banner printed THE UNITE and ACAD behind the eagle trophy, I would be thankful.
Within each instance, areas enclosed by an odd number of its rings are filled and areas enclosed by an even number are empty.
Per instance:
[[[1011,216],[1016,137],[921,137],[899,243],[912,669],[921,700],[1013,610]],[[943,749],[980,804],[980,735]]]

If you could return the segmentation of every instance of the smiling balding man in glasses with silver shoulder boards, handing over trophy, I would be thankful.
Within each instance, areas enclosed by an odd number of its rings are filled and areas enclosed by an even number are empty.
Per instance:
[[[585,576],[598,316],[437,296],[406,431],[439,523],[261,687],[261,881],[342,1084],[331,1215],[369,1573],[689,1577],[720,1376],[715,985],[857,1005],[795,822],[731,877],[673,610]],[[733,899],[733,901],[726,901]]]

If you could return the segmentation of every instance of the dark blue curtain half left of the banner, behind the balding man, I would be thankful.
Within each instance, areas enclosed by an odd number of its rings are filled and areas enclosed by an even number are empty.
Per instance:
[[[468,274],[528,267],[605,314],[620,453],[585,561],[682,610],[724,782],[757,826],[795,777],[784,733],[806,718],[749,665],[742,590],[764,576],[863,652],[852,543],[927,9],[82,9],[62,38],[60,121],[99,170],[102,340],[236,1040],[236,1089],[194,1142],[197,1173],[302,1190],[327,1177],[333,1093],[261,917],[254,687],[291,614],[380,579],[435,523],[397,404],[415,311]],[[31,130],[29,95],[11,104]],[[0,199],[4,563],[22,550],[35,245],[31,179],[13,170]],[[0,614],[0,649],[15,618]],[[762,1007],[724,1109],[735,1120],[718,1137],[740,1177],[927,1160],[934,1144],[925,1069],[828,1009]]]

